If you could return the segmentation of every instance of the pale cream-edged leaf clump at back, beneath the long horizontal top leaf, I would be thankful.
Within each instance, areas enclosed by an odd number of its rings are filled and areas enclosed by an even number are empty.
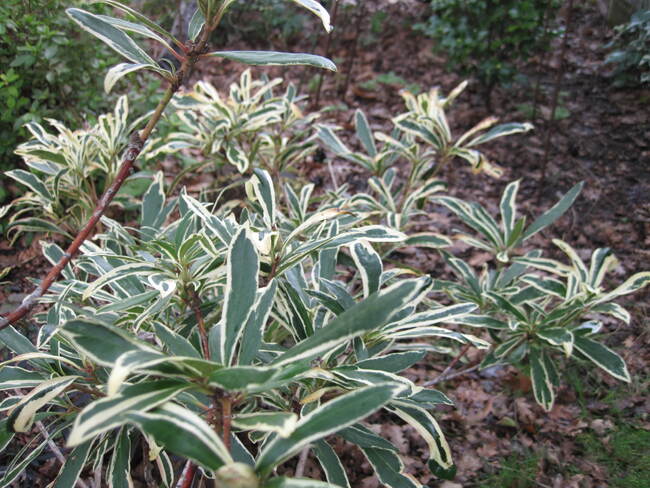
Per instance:
[[[181,131],[170,134],[156,154],[196,148],[208,158],[206,164],[229,163],[240,173],[263,168],[277,178],[316,150],[310,132],[318,117],[302,113],[299,104],[305,97],[293,84],[275,95],[280,83],[280,78],[253,80],[246,70],[230,86],[227,99],[211,84],[197,83],[172,101]]]

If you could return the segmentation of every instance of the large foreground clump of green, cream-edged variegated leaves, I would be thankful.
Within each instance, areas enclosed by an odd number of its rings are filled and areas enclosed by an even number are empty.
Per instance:
[[[73,451],[60,486],[74,486],[91,467],[111,486],[127,486],[142,448],[160,486],[178,478],[175,454],[241,486],[347,487],[330,445],[338,436],[361,449],[386,486],[419,487],[398,449],[363,425],[382,408],[423,436],[435,474],[453,475],[431,413],[451,402],[399,373],[425,354],[414,337],[487,347],[441,327],[476,306],[432,308],[428,277],[385,270],[372,243],[403,234],[363,225],[333,201],[305,205],[306,195],[284,215],[261,170],[248,192],[235,218],[228,206],[213,213],[186,193],[166,200],[159,173],[140,229],[104,218],[104,234],[64,270],[47,297],[51,308],[37,317],[36,344],[13,328],[0,332],[15,353],[0,366],[2,385],[20,392],[2,402],[3,446],[35,421],[44,427],[0,484],[64,436]],[[170,215],[178,217],[166,223]],[[55,261],[61,250],[45,253]],[[340,260],[355,270],[352,281],[338,275]],[[324,480],[274,476],[304,449]]]

